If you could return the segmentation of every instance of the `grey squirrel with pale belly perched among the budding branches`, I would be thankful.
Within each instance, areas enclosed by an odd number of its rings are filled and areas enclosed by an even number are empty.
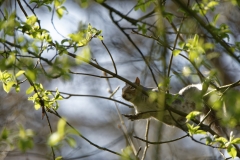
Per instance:
[[[192,84],[182,88],[177,94],[164,93],[158,88],[144,87],[137,77],[134,82],[138,87],[126,83],[122,88],[122,97],[134,105],[134,115],[124,115],[130,120],[147,119],[153,117],[167,125],[176,126],[188,131],[186,117],[170,108],[189,114],[192,111],[201,112],[197,120],[210,128],[217,136],[226,136],[225,130],[220,127],[215,111],[202,98],[202,84]],[[148,93],[148,95],[144,94]],[[211,133],[211,134],[213,134]]]

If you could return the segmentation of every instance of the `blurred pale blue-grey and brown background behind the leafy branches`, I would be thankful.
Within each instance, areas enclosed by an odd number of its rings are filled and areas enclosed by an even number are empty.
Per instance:
[[[22,1],[26,12],[31,15],[32,12],[25,2],[31,7],[34,7],[34,3],[30,4],[27,0]],[[189,4],[192,5],[197,2],[189,1]],[[166,14],[171,13],[176,16],[172,19],[172,23],[179,28],[183,19],[183,13],[178,6],[172,1],[158,1],[158,3],[164,6]],[[205,21],[209,20],[211,22],[215,14],[220,13],[217,23],[219,25],[225,23],[229,26],[231,32],[228,33],[229,39],[226,38],[226,41],[230,45],[235,44],[239,41],[238,35],[240,32],[240,19],[237,18],[240,16],[239,7],[233,5],[230,1],[220,1],[219,3],[215,10],[206,14]],[[52,39],[59,43],[62,39],[68,38],[69,34],[79,31],[84,25],[86,26],[89,23],[98,30],[102,30],[103,41],[113,56],[118,74],[130,81],[134,81],[136,77],[139,77],[142,85],[156,87],[152,74],[158,83],[164,81],[171,57],[171,51],[168,49],[168,46],[173,46],[176,32],[173,25],[162,18],[162,15],[155,10],[156,6],[154,4],[151,4],[146,12],[140,9],[135,10],[134,7],[136,5],[136,0],[108,0],[102,4],[91,0],[86,3],[80,0],[67,0],[64,6],[68,12],[61,19],[57,17],[56,13],[52,14],[52,12],[49,12],[47,7],[35,9],[35,13],[40,20],[41,27],[47,29]],[[24,14],[19,8],[17,1],[8,0],[3,2],[1,11],[5,8],[8,11],[16,9],[17,18],[25,21]],[[148,16],[145,17],[145,15]],[[129,19],[126,17],[129,17]],[[142,36],[140,32],[138,32],[139,34],[134,33],[133,30],[138,31],[140,27],[140,25],[137,26],[134,24],[134,20],[145,22],[147,24],[147,34],[158,37],[162,41],[162,44],[159,44],[159,42],[152,38]],[[162,29],[162,32],[159,31],[160,29]],[[213,38],[208,35],[206,30],[200,27],[191,17],[185,18],[181,31],[183,38],[194,37],[194,34],[197,33],[204,41],[214,43]],[[16,32],[16,34],[20,33]],[[209,50],[200,59],[201,65],[198,66],[199,70],[206,77],[211,72],[214,72],[220,85],[239,80],[239,63],[236,59],[226,54],[222,46],[219,44],[215,45],[214,49]],[[92,58],[100,66],[114,72],[111,58],[101,41],[93,39],[89,46]],[[55,52],[54,50],[49,50],[48,52],[44,52],[42,56],[51,59]],[[141,54],[151,67],[152,73]],[[186,53],[182,54],[187,55]],[[71,63],[74,60],[69,58],[68,61]],[[100,70],[86,63],[82,63],[79,66],[72,66],[71,71],[103,76]],[[201,83],[192,64],[181,56],[174,56],[170,75],[169,89],[171,93],[177,93],[188,84]],[[109,78],[108,80],[113,90],[118,86],[120,87],[114,98],[128,103],[121,97],[121,88],[125,85],[125,82],[117,78]],[[43,74],[39,74],[37,81],[41,82],[44,88],[49,90],[58,88],[59,91],[72,94],[110,96],[110,86],[105,78],[69,74],[67,78],[50,79],[46,78]],[[32,129],[35,133],[34,148],[25,153],[17,149],[11,149],[7,144],[1,144],[1,156],[6,160],[41,160],[52,158],[51,149],[46,145],[47,138],[50,135],[47,119],[45,117],[42,120],[41,110],[35,110],[33,103],[27,100],[25,91],[28,87],[29,84],[24,83],[21,86],[20,94],[15,91],[7,94],[3,89],[0,90],[1,129],[7,127],[14,131],[18,129],[19,125],[22,125],[25,129]],[[117,105],[121,114],[134,113],[133,109],[123,104]],[[128,145],[126,137],[123,134],[116,104],[113,101],[88,96],[71,97],[60,101],[58,112],[71,125],[76,127],[81,134],[99,146],[121,152]],[[48,115],[53,130],[56,130],[58,118],[51,114]],[[142,148],[140,151],[140,155],[142,155],[146,144],[133,138],[133,136],[144,138],[146,120],[132,122],[125,117],[123,117],[123,120],[136,149]],[[183,135],[185,133],[177,128],[162,125],[162,123],[153,119],[150,121],[149,141],[167,141]],[[201,137],[201,135],[196,136],[196,139],[200,139]],[[73,138],[76,140],[77,146],[71,148],[68,144],[63,143],[61,147],[56,148],[55,152],[57,156],[61,155],[64,160],[120,159],[117,155],[99,150],[77,136],[73,136]],[[145,159],[210,160],[222,159],[222,157],[217,149],[193,142],[190,138],[184,138],[171,143],[149,145]]]

